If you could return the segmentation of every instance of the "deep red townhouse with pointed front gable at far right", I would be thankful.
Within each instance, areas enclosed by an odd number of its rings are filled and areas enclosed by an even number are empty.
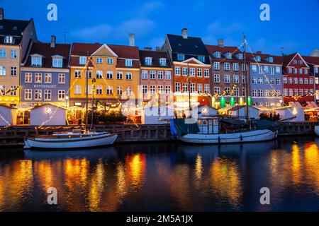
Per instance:
[[[283,95],[284,102],[306,102],[315,100],[315,76],[310,75],[310,67],[298,52],[285,55],[283,60]]]

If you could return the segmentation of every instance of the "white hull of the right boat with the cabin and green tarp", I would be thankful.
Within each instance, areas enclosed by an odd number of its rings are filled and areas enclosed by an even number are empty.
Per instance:
[[[250,143],[258,141],[271,141],[278,136],[278,131],[261,129],[242,133],[220,133],[220,134],[201,134],[189,133],[179,137],[179,140],[186,143]]]

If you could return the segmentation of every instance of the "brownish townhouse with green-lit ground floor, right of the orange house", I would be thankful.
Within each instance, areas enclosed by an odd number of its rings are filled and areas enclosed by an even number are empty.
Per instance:
[[[240,49],[226,47],[222,39],[218,40],[218,45],[206,44],[206,49],[211,54],[213,107],[226,107],[235,103],[244,105],[246,79]]]

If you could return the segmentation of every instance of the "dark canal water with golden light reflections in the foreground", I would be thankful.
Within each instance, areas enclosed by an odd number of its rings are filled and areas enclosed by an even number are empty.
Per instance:
[[[303,136],[1,155],[0,211],[318,211],[318,147]],[[57,205],[47,204],[50,187]]]

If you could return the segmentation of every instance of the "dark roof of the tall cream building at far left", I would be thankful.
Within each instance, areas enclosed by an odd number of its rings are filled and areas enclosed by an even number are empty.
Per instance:
[[[31,20],[0,20],[0,44],[4,44],[4,37],[6,35],[12,35],[14,37],[13,44],[20,44],[22,32]]]

